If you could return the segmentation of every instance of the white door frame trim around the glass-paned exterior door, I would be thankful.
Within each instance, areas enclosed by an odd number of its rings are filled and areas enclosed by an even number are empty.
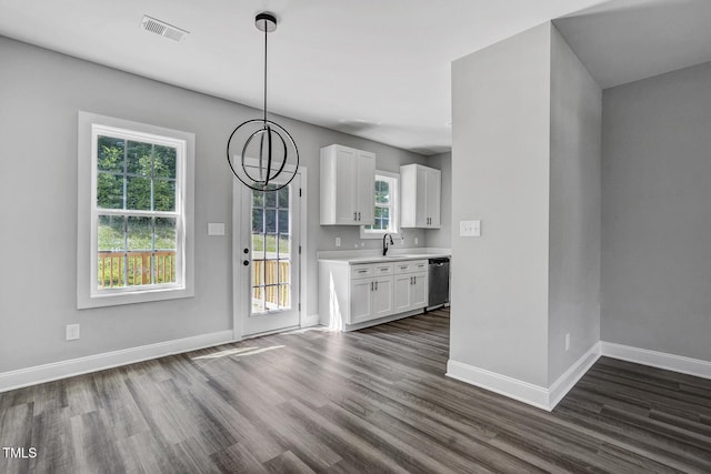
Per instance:
[[[248,164],[251,160],[248,160]],[[254,160],[257,163],[257,160]],[[293,168],[291,168],[293,170]],[[309,209],[307,192],[307,168],[299,167],[297,173],[301,180],[301,199],[300,201],[300,222],[299,222],[299,244],[301,245],[301,253],[299,254],[299,326],[303,327],[307,314],[307,228],[309,220],[307,210]],[[244,339],[244,331],[242,327],[243,311],[248,307],[246,299],[249,292],[246,291],[244,272],[241,270],[242,261],[242,241],[241,241],[241,223],[242,223],[242,190],[244,185],[238,180],[232,180],[232,333],[234,341],[241,341]]]

